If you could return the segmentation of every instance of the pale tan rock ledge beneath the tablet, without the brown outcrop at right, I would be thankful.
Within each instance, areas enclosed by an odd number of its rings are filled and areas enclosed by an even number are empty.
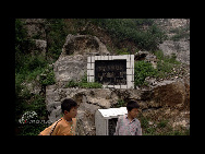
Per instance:
[[[138,98],[137,91],[112,88],[57,88],[47,86],[46,104],[50,112],[49,120],[56,121],[61,115],[60,104],[64,98],[72,98],[79,104],[77,120],[80,135],[95,135],[95,112],[99,108],[110,108],[119,99]]]

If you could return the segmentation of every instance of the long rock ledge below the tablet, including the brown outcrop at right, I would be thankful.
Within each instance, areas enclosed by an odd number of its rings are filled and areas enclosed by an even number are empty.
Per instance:
[[[49,85],[46,92],[51,121],[62,116],[60,104],[64,98],[76,100],[80,135],[95,135],[96,110],[114,107],[120,99],[124,102],[136,99],[141,106],[140,111],[155,120],[166,117],[173,127],[182,121],[185,127],[190,125],[190,85],[183,81],[158,84],[150,90],[57,88],[57,85]]]

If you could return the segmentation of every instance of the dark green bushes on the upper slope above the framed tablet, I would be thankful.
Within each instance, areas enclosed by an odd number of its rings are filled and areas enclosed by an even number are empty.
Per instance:
[[[91,21],[105,28],[119,43],[134,42],[140,49],[157,49],[158,44],[167,38],[150,19],[94,19]],[[147,29],[144,29],[144,26],[147,26]]]

